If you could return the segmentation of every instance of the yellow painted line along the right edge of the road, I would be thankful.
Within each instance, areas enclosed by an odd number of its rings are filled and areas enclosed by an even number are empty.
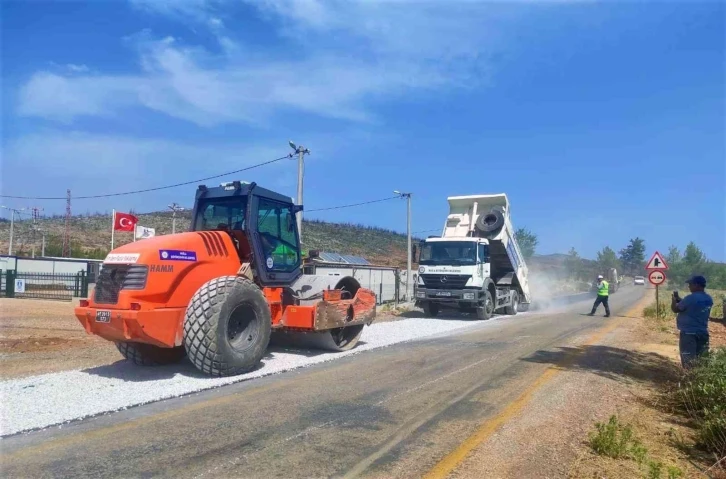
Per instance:
[[[624,316],[633,316],[636,312],[640,312],[652,299],[650,296],[646,296],[636,303],[635,306],[630,308]],[[599,329],[596,333],[590,336],[582,346],[591,346],[599,342],[605,335],[611,333],[620,324],[625,321],[626,318],[619,317],[609,322],[606,326]],[[469,436],[459,444],[459,446],[447,454],[441,459],[425,476],[425,479],[444,479],[451,474],[464,460],[467,458],[469,453],[473,451],[477,446],[489,439],[502,425],[507,423],[510,419],[519,414],[522,409],[529,404],[534,394],[539,390],[540,387],[551,381],[558,373],[560,373],[565,367],[571,366],[578,355],[582,352],[571,353],[567,356],[565,361],[558,366],[550,366],[547,370],[542,373],[527,389],[514,401],[509,403],[502,411],[496,416],[489,419],[477,429],[474,434]]]

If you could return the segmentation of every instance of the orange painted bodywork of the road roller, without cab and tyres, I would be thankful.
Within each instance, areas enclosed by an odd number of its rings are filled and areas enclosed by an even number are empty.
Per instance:
[[[181,346],[192,296],[213,278],[237,275],[246,259],[244,249],[238,252],[230,235],[221,231],[158,236],[121,246],[106,257],[100,275],[106,275],[104,281],[99,280],[75,315],[89,334],[110,341]],[[375,293],[365,288],[347,299],[340,291],[323,291],[320,301],[306,305],[286,300],[285,288],[262,291],[277,329],[326,330],[370,324],[375,316]]]

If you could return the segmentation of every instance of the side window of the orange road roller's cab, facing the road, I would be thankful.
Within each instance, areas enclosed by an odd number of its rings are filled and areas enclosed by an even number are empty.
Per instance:
[[[260,198],[257,208],[265,267],[268,271],[294,271],[300,264],[300,248],[292,205]]]

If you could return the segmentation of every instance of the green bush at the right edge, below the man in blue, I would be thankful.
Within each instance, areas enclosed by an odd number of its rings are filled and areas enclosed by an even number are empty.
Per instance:
[[[678,404],[695,420],[699,444],[726,456],[726,348],[711,351],[686,373]]]

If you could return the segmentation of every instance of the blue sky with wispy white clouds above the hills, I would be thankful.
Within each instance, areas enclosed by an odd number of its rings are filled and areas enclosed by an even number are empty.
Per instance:
[[[593,257],[640,236],[649,251],[694,240],[726,260],[723,2],[0,8],[4,195],[176,183],[282,156],[292,139],[312,151],[306,209],[410,191],[422,231],[443,224],[447,196],[506,192],[541,253]],[[294,196],[296,166],[239,179]],[[73,210],[152,211],[193,195]],[[405,231],[399,200],[308,217]]]

